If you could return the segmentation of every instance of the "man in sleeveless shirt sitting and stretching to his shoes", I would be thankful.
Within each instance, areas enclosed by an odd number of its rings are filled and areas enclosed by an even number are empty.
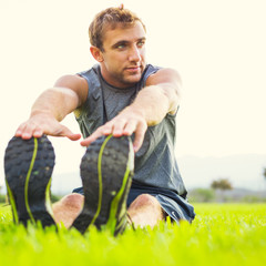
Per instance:
[[[9,143],[4,167],[14,219],[62,222],[82,233],[94,224],[114,234],[123,232],[126,222],[142,227],[166,216],[191,222],[195,214],[174,155],[178,73],[146,64],[145,25],[123,6],[100,12],[89,34],[99,64],[62,76],[44,91]],[[71,112],[84,137],[81,145],[88,146],[81,163],[83,187],[55,203],[51,212],[44,194],[54,154],[45,135],[79,140],[80,134],[60,124]],[[19,158],[16,151],[22,154]],[[25,161],[25,170],[13,166],[19,160]],[[18,175],[23,176],[20,185]]]

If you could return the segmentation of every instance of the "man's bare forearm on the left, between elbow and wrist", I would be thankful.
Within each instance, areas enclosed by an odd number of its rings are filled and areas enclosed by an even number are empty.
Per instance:
[[[52,88],[44,91],[33,103],[31,115],[47,114],[62,121],[64,116],[71,113],[79,105],[76,94],[66,88]]]

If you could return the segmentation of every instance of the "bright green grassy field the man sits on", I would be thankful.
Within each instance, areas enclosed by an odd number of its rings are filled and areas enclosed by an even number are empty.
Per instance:
[[[0,206],[0,265],[266,265],[266,204],[194,204],[192,224],[127,228],[119,237],[94,228],[42,231],[12,224]]]

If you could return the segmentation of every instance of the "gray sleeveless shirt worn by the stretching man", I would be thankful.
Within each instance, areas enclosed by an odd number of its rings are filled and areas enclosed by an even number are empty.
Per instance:
[[[85,103],[74,112],[83,137],[91,135],[99,126],[131,104],[137,92],[145,86],[147,78],[158,69],[151,64],[146,65],[141,80],[129,89],[117,89],[108,84],[101,75],[100,65],[79,73],[89,84]],[[166,114],[160,124],[147,127],[143,145],[135,154],[133,182],[167,188],[185,198],[186,190],[174,152],[175,115]]]

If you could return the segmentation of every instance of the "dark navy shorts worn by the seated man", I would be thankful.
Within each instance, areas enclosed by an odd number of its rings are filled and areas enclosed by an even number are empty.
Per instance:
[[[84,195],[82,187],[73,190],[73,193]],[[141,194],[154,196],[161,204],[164,212],[177,223],[180,219],[186,219],[191,223],[195,217],[194,207],[175,192],[160,187],[146,186],[136,182],[133,182],[131,185],[126,202],[127,207]]]

